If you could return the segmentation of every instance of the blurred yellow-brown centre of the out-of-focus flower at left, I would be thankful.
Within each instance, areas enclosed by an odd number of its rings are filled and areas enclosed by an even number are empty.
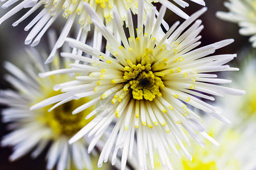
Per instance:
[[[42,84],[47,84],[47,86],[40,88],[42,96],[38,97],[35,102],[61,94],[60,91],[52,90],[53,84],[63,82],[67,79],[70,79],[69,75],[56,75],[50,76],[47,80],[43,79],[42,81],[45,83]],[[80,100],[71,100],[67,103],[61,104],[51,112],[48,112],[48,109],[53,107],[54,104],[38,109],[36,111],[38,113],[38,121],[44,126],[51,128],[53,131],[53,136],[56,135],[57,137],[58,135],[75,135],[80,129],[82,129],[94,118],[92,117],[88,120],[85,120],[85,117],[94,110],[95,106],[93,105],[92,107],[89,107],[88,109],[85,109],[84,111],[77,114],[72,114],[72,111],[90,100],[90,97],[84,97]]]

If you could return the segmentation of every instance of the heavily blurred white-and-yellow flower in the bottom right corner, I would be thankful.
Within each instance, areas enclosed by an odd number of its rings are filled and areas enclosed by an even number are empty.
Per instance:
[[[185,156],[181,156],[181,159],[172,156],[174,169],[255,169],[256,147],[254,143],[256,138],[253,137],[255,131],[254,124],[247,124],[247,128],[241,130],[237,129],[239,127],[231,128],[230,126],[220,125],[219,122],[209,120],[209,117],[204,117],[204,121],[207,122],[206,129],[208,129],[208,134],[220,142],[221,145],[215,146],[204,140],[206,146],[201,148],[193,142],[192,145],[194,144],[195,147],[189,148],[189,152],[193,155],[193,160],[189,161]],[[250,140],[247,138],[250,138]],[[155,155],[155,164],[160,164],[157,155]]]

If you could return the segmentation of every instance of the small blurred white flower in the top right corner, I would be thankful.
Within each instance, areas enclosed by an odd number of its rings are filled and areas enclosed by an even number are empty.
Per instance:
[[[229,12],[218,11],[216,16],[228,22],[237,23],[241,28],[239,33],[251,36],[249,41],[256,47],[256,1],[229,0],[224,2]]]

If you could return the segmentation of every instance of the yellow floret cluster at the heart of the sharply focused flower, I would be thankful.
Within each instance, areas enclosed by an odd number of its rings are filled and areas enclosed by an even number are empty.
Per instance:
[[[159,97],[162,96],[159,87],[164,87],[160,78],[164,74],[155,72],[152,68],[159,65],[154,58],[150,57],[152,55],[153,50],[146,48],[140,63],[137,65],[127,60],[129,66],[125,66],[125,73],[123,75],[123,79],[127,80],[127,83],[123,87],[123,90],[125,92],[130,91],[134,99],[152,101],[156,95]]]

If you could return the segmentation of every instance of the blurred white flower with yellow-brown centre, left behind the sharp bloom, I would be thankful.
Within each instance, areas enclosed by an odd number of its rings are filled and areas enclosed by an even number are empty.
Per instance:
[[[71,80],[69,75],[56,75],[46,79],[38,77],[40,71],[59,69],[57,59],[50,65],[44,65],[43,58],[35,51],[29,51],[31,59],[35,59],[27,65],[25,72],[18,69],[10,62],[5,63],[5,68],[10,72],[6,80],[15,90],[2,90],[0,103],[9,106],[3,109],[3,122],[8,125],[11,132],[2,138],[1,146],[13,147],[10,160],[14,161],[32,152],[32,158],[36,158],[48,145],[47,169],[92,169],[90,156],[87,153],[90,139],[82,138],[72,145],[68,144],[69,138],[76,134],[90,120],[84,118],[94,110],[94,107],[72,115],[71,111],[79,105],[90,101],[90,98],[73,100],[48,112],[50,106],[30,111],[31,105],[60,94],[52,90],[52,85]],[[68,65],[65,59],[64,65]],[[95,154],[94,154],[95,155]]]

